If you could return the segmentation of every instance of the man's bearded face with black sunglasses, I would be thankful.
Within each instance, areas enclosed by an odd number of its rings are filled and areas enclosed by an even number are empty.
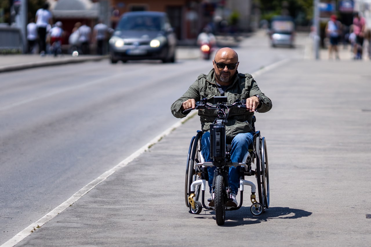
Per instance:
[[[236,57],[216,57],[213,61],[216,79],[224,83],[230,82],[237,71],[238,63]]]

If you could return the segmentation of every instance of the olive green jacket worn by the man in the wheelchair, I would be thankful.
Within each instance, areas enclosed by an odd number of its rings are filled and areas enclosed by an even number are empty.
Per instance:
[[[247,99],[254,95],[260,96],[260,105],[256,109],[257,112],[267,112],[272,108],[272,101],[260,91],[256,81],[250,74],[236,72],[234,82],[224,92],[228,103],[234,103],[236,99]],[[181,111],[184,101],[194,99],[197,102],[207,98],[210,102],[214,96],[221,95],[214,78],[214,69],[212,69],[208,75],[201,74],[198,76],[187,92],[171,105],[171,113],[177,118],[184,118],[186,114],[183,114]],[[198,115],[200,116],[202,130],[209,131],[210,123],[213,123],[217,117],[217,111],[215,109],[200,109],[198,110]],[[239,133],[252,131],[253,115],[254,112],[249,112],[246,109],[237,107],[230,109],[228,122],[226,123],[227,140],[231,141]]]

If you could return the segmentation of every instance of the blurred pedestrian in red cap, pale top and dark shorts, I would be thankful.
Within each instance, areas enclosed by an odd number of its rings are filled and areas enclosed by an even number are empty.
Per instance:
[[[331,15],[330,20],[327,22],[325,30],[326,35],[330,39],[330,45],[328,47],[328,58],[332,59],[332,51],[334,51],[336,59],[340,59],[338,44],[342,27],[341,23],[336,19],[336,16],[334,14]]]

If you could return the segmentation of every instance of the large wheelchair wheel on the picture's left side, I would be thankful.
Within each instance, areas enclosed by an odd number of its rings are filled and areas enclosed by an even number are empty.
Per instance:
[[[200,162],[200,151],[201,151],[201,136],[202,132],[197,133],[191,139],[190,147],[188,150],[188,158],[187,158],[187,166],[186,166],[186,174],[185,174],[185,188],[184,188],[184,195],[185,195],[185,205],[190,208],[191,213],[199,214],[201,211],[193,209],[192,206],[188,202],[188,197],[190,196],[191,191],[191,184],[196,180],[201,179],[201,171],[200,168],[196,167],[196,164]],[[195,196],[193,200],[196,202],[200,198],[201,194],[201,185],[196,185],[196,190],[194,192]],[[196,206],[199,206],[196,202]],[[202,208],[202,204],[201,204]]]

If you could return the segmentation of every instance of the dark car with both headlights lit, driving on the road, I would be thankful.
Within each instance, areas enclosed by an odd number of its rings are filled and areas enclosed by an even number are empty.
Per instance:
[[[175,62],[176,37],[166,13],[134,11],[122,15],[109,40],[111,63],[119,60]]]

